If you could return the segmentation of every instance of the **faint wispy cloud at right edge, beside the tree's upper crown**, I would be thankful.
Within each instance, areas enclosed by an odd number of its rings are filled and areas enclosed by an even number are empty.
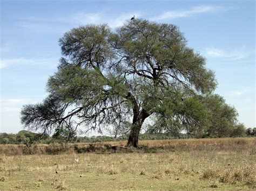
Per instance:
[[[247,56],[255,54],[255,49],[251,50],[246,47],[236,49],[220,49],[220,48],[206,48],[206,55],[210,58],[220,58],[226,60],[240,60]]]

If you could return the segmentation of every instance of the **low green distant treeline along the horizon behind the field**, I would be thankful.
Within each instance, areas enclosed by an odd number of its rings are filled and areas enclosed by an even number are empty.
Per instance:
[[[232,137],[245,137],[245,136],[255,136],[256,128],[248,128],[245,132],[240,132]],[[202,138],[215,138],[217,136],[204,135]],[[179,133],[178,136],[173,136],[170,133],[143,133],[139,136],[139,140],[153,140],[153,139],[185,139],[193,138],[187,133]],[[69,142],[71,143],[96,143],[96,142],[112,142],[119,140],[127,140],[127,136],[120,137],[110,137],[110,136],[92,136],[92,137],[73,137]],[[66,139],[62,136],[52,137],[49,135],[41,136],[38,133],[33,133],[30,131],[19,131],[17,134],[14,133],[0,133],[0,144],[50,144],[50,143],[63,143]]]

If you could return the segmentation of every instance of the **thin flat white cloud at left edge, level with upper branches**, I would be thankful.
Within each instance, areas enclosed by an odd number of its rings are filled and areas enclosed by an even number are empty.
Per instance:
[[[58,63],[58,59],[2,59],[0,60],[0,69],[12,65],[50,65],[51,63]]]

